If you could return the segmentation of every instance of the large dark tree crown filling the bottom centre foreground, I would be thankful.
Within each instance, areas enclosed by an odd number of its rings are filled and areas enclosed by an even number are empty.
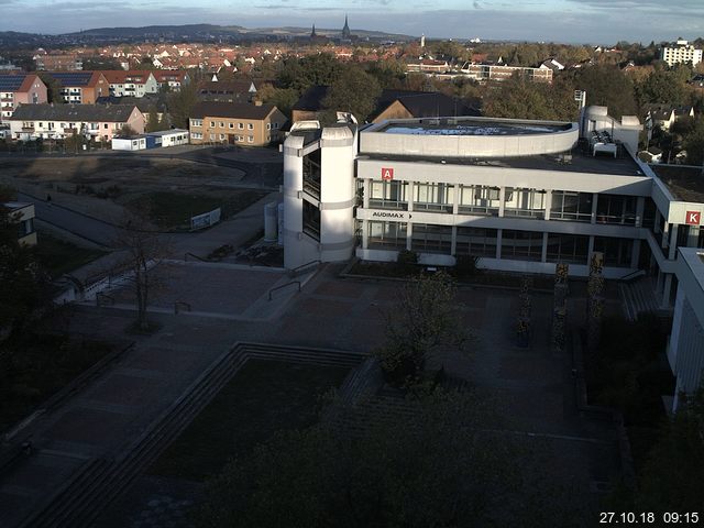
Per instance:
[[[502,420],[473,393],[437,391],[406,413],[338,409],[334,426],[278,433],[229,463],[207,485],[197,526],[587,526],[579,494],[534,477],[539,450],[486,432]]]

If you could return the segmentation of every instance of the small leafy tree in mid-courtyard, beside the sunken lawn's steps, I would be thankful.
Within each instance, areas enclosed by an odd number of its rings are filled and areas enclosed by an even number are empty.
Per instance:
[[[393,308],[385,314],[385,342],[374,351],[391,382],[414,385],[426,361],[439,348],[463,350],[466,336],[455,295],[454,280],[444,272],[419,275],[402,288]]]

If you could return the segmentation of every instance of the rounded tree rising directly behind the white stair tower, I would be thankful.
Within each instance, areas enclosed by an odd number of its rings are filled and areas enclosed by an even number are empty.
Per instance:
[[[327,110],[323,120],[334,122],[334,112],[350,112],[363,123],[376,108],[382,88],[375,77],[359,66],[349,66],[330,85],[322,100]]]

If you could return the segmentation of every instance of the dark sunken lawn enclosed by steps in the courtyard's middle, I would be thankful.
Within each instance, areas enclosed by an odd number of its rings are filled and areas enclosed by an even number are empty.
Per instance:
[[[338,387],[346,369],[249,360],[150,473],[205,481],[228,459],[282,429],[302,428],[318,417],[319,398]]]

